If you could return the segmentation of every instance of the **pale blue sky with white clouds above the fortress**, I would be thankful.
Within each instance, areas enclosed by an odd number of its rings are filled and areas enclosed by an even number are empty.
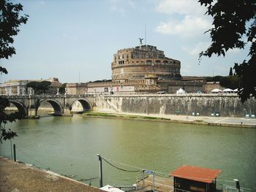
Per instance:
[[[247,58],[248,51],[234,49],[225,58],[203,57],[198,63],[198,54],[211,43],[204,32],[212,18],[195,0],[17,2],[29,20],[15,37],[16,55],[0,61],[9,72],[0,75],[0,82],[110,80],[113,54],[140,45],[138,38],[181,61],[182,76],[226,76],[234,63]]]

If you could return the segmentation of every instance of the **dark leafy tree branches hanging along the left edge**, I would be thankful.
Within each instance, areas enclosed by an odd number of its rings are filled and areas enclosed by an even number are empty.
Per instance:
[[[16,54],[15,48],[12,47],[15,37],[20,31],[18,27],[25,24],[28,20],[28,15],[20,16],[23,11],[21,4],[13,4],[9,0],[0,0],[0,61],[2,59],[9,59]],[[0,66],[0,73],[7,74],[7,69]],[[5,128],[8,122],[13,122],[21,118],[20,113],[12,113],[10,115],[4,112],[6,107],[10,106],[8,99],[0,96],[0,142],[2,139],[11,139],[17,134],[10,129]]]

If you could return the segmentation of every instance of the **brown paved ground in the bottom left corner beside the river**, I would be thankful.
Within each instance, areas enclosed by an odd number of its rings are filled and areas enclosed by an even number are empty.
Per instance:
[[[32,168],[0,157],[0,191],[88,191],[102,192],[53,172]]]

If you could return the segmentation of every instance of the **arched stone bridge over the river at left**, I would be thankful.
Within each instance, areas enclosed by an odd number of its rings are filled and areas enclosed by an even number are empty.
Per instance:
[[[83,111],[92,110],[95,106],[93,95],[29,95],[29,96],[5,96],[11,104],[14,104],[24,116],[37,116],[37,110],[43,102],[51,104],[54,115],[69,115],[72,105],[79,101]]]

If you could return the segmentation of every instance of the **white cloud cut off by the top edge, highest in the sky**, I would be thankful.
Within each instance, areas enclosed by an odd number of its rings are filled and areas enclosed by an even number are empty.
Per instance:
[[[206,7],[200,6],[195,0],[162,0],[157,5],[157,11],[170,15],[203,15],[206,13]]]

